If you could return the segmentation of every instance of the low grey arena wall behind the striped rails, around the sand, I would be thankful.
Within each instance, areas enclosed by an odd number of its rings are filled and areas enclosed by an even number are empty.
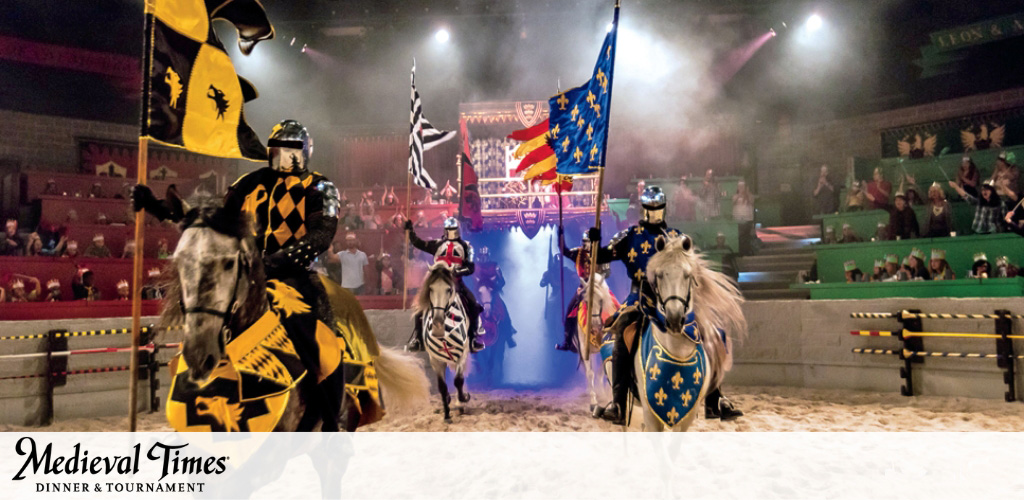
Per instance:
[[[743,305],[750,334],[735,345],[735,363],[727,378],[732,385],[782,385],[819,389],[849,389],[899,392],[902,363],[895,356],[855,355],[853,347],[899,349],[895,337],[858,337],[851,330],[896,330],[895,320],[853,320],[850,312],[888,312],[919,308],[925,312],[991,314],[997,308],[1024,312],[1024,301],[1014,299],[877,299],[757,301]],[[378,340],[383,345],[400,346],[413,327],[409,311],[368,310]],[[154,319],[146,318],[143,324]],[[0,334],[31,335],[50,329],[83,329],[81,320],[0,323]],[[90,320],[87,328],[111,329],[130,326],[125,318]],[[991,320],[925,320],[928,331],[994,331]],[[1021,332],[1015,321],[1015,333]],[[180,335],[180,334],[178,334]],[[161,334],[159,342],[180,338]],[[994,352],[994,340],[928,338],[927,350]],[[123,346],[126,335],[73,337],[72,349]],[[0,341],[0,355],[45,351],[44,339]],[[1020,344],[1018,343],[1018,347]],[[158,359],[166,361],[171,349]],[[1020,352],[1018,350],[1018,352]],[[124,366],[125,353],[72,357],[72,370]],[[45,372],[45,359],[0,361],[0,377]],[[994,360],[927,359],[914,367],[916,393],[923,395],[969,397],[1001,400],[1006,390],[1002,374]],[[1019,377],[1020,378],[1020,377]],[[161,404],[166,399],[169,377],[161,370]],[[124,415],[127,373],[72,375],[68,384],[55,389],[54,416],[57,420]],[[1018,384],[1021,383],[1018,380]],[[139,382],[140,411],[148,411],[148,383]],[[42,378],[0,380],[0,425],[38,425],[44,409],[45,381]]]

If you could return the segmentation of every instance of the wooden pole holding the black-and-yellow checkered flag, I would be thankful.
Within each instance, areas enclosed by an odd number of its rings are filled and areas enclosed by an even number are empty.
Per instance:
[[[146,1],[142,15],[142,106],[139,116],[138,162],[136,182],[145,185],[150,160],[150,79],[153,75],[153,12]],[[130,203],[130,202],[129,202]],[[134,432],[138,421],[138,345],[142,323],[142,258],[145,251],[145,211],[135,212],[135,253],[132,255],[131,277],[131,359],[128,366],[128,431]]]

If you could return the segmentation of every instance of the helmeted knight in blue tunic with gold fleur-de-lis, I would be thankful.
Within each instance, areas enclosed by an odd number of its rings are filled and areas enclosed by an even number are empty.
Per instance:
[[[597,263],[607,264],[613,260],[621,261],[630,276],[630,294],[623,301],[622,307],[609,319],[608,330],[612,334],[611,350],[611,403],[603,410],[601,416],[617,425],[626,423],[626,403],[630,394],[633,359],[635,345],[628,346],[624,335],[627,327],[635,326],[642,331],[645,318],[654,314],[654,289],[646,276],[647,262],[657,252],[656,241],[659,237],[679,236],[682,233],[670,228],[665,220],[666,196],[658,186],[647,186],[640,195],[642,213],[640,220],[611,238],[605,247],[598,247]],[[601,241],[601,233],[597,227],[589,231],[590,241]],[[638,336],[633,338],[636,344]],[[732,403],[722,397],[721,390],[715,389],[705,400],[707,418],[736,418],[742,412],[736,410]],[[714,410],[714,411],[713,411]]]

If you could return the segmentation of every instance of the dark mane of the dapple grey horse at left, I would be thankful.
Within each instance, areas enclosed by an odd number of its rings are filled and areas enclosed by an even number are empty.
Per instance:
[[[249,294],[242,300],[239,314],[236,315],[234,327],[252,324],[263,312],[266,306],[266,277],[263,274],[263,259],[259,255],[254,235],[254,223],[248,213],[224,208],[220,198],[201,197],[195,204],[196,208],[185,213],[178,227],[186,230],[205,225],[221,235],[244,242],[243,248],[251,248],[249,255],[250,281]],[[161,274],[163,278],[164,303],[160,312],[160,325],[172,327],[184,324],[184,312],[181,310],[181,280],[174,260],[168,260]],[[240,333],[240,332],[236,332]]]

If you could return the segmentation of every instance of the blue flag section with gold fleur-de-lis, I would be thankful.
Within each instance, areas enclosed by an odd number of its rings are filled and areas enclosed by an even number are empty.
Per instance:
[[[558,174],[589,173],[604,166],[617,33],[616,7],[615,22],[604,37],[593,77],[587,83],[548,100],[551,109],[550,144],[558,159],[555,167]]]

